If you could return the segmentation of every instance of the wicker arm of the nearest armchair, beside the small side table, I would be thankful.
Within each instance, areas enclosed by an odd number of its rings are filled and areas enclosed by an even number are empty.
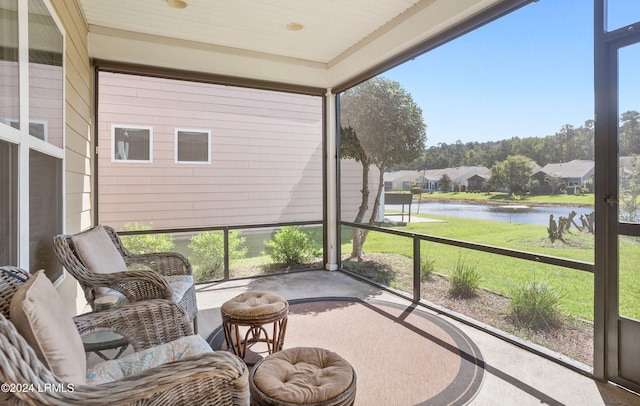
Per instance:
[[[172,300],[155,299],[73,318],[80,335],[113,331],[141,351],[193,334],[184,309]],[[170,322],[167,322],[170,321]]]

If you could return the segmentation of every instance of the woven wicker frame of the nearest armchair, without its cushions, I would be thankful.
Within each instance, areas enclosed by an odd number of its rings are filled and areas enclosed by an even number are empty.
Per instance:
[[[29,274],[0,267],[0,404],[28,405],[248,405],[248,370],[228,352],[205,352],[101,385],[70,385],[41,362],[9,320],[9,302]],[[158,322],[162,325],[155,323]],[[151,322],[151,324],[150,324]],[[175,302],[149,300],[75,318],[81,334],[111,330],[138,350],[189,334]],[[3,388],[4,389],[4,388]]]

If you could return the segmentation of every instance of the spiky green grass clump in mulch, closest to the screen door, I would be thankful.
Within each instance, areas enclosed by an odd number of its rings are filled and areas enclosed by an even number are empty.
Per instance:
[[[520,327],[549,328],[559,324],[561,295],[546,282],[530,281],[510,289],[509,315]]]

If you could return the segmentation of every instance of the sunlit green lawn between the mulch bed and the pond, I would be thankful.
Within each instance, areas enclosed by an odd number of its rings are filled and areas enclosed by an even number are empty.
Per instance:
[[[512,224],[455,217],[429,216],[446,220],[441,223],[410,223],[398,227],[403,231],[477,242],[550,256],[593,262],[593,235],[575,228],[566,242],[551,243],[545,226]],[[345,233],[348,235],[348,233]],[[343,234],[343,235],[345,235]],[[623,255],[621,272],[621,312],[640,318],[640,277],[635,264],[640,263],[640,242],[627,239],[620,244]],[[343,253],[351,252],[351,241],[343,239]],[[410,238],[370,232],[364,247],[369,253],[395,253],[412,256]],[[583,271],[545,265],[522,259],[461,249],[446,244],[422,242],[423,258],[435,261],[436,272],[449,274],[458,260],[474,266],[482,275],[482,286],[508,294],[511,287],[529,280],[546,280],[562,294],[565,312],[593,320],[593,275]],[[410,270],[399,272],[406,273]],[[400,279],[400,278],[399,278]],[[411,292],[411,286],[404,287]]]

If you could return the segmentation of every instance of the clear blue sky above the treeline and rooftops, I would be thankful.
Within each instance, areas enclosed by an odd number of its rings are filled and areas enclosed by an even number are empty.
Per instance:
[[[640,0],[609,4],[609,27],[640,21]],[[625,52],[621,111],[640,111],[640,45]],[[594,118],[593,1],[540,0],[381,76],[421,107],[428,147],[580,127]]]

